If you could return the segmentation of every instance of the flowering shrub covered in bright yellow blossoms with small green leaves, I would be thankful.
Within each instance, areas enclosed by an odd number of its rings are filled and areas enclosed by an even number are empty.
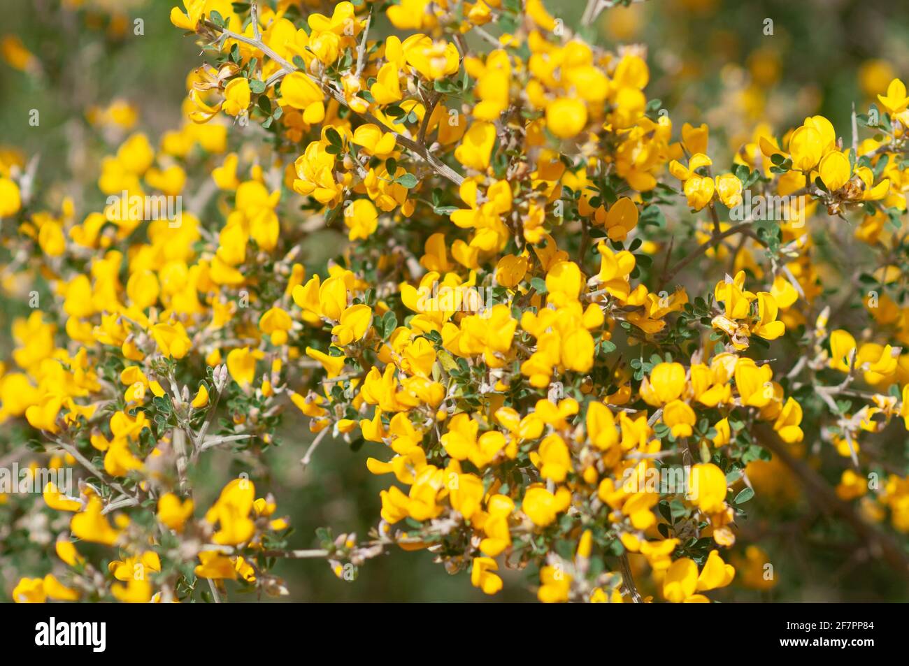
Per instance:
[[[729,157],[647,93],[644,45],[591,38],[629,4],[572,30],[540,0],[185,0],[183,124],[89,114],[128,134],[104,205],[0,154],[4,286],[34,302],[4,460],[77,477],[5,495],[54,552],[12,598],[281,595],[285,559],[351,580],[404,549],[490,595],[526,569],[540,601],[711,601],[774,587],[748,502],[794,492],[909,575],[905,85]],[[323,227],[348,243],[308,263]],[[340,442],[381,514],[295,550],[250,461]]]

